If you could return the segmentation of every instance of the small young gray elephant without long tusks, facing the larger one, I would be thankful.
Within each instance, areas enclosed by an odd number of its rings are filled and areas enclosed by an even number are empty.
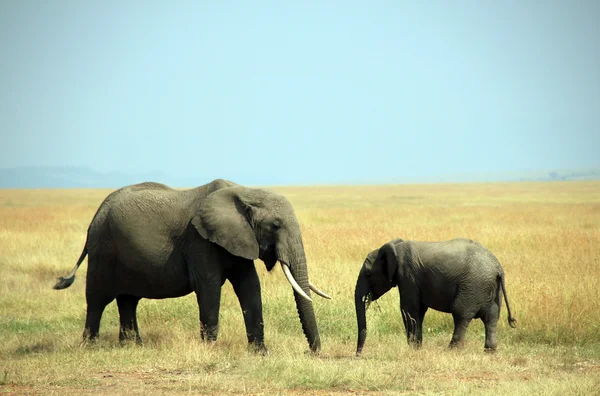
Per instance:
[[[480,318],[485,325],[485,350],[496,349],[496,325],[502,294],[508,323],[516,327],[510,312],[504,271],[498,259],[470,239],[416,242],[394,239],[367,256],[354,293],[358,343],[362,352],[367,337],[365,311],[392,287],[400,291],[400,311],[408,343],[423,341],[423,318],[428,308],[451,313],[454,334],[450,347],[462,346],[467,326]]]

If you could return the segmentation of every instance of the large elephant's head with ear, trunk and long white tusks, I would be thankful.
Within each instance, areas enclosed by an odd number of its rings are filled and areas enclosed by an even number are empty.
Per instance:
[[[310,349],[321,347],[310,290],[329,298],[308,280],[300,225],[289,201],[274,192],[228,187],[202,201],[192,219],[203,238],[229,253],[249,260],[260,258],[267,270],[277,261],[294,288],[296,307]]]

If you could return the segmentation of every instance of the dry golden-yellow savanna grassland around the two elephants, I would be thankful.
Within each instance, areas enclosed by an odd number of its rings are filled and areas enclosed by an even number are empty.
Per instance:
[[[79,257],[108,190],[0,190],[0,393],[15,394],[600,394],[600,182],[273,188],[300,220],[322,339],[308,345],[281,268],[263,289],[269,356],[246,348],[242,314],[225,284],[219,340],[199,340],[194,295],[142,300],[143,346],[120,346],[115,303],[98,343],[80,347],[86,262]],[[473,321],[448,350],[450,315],[429,311],[424,345],[408,347],[393,289],[367,311],[354,357],[353,291],[365,255],[390,239],[467,237],[496,254],[518,320],[503,307],[498,351],[483,352]]]

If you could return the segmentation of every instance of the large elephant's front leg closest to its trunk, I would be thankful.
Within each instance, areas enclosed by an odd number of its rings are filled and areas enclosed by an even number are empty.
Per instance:
[[[265,346],[264,324],[262,317],[262,298],[260,280],[252,262],[235,266],[228,276],[233,290],[240,301],[248,343],[257,351],[267,353]]]

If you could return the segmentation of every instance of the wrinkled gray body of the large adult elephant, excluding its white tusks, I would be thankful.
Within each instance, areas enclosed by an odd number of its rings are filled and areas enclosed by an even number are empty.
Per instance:
[[[221,286],[231,282],[239,299],[248,342],[264,344],[260,282],[253,260],[270,271],[288,264],[310,296],[300,226],[283,196],[226,180],[180,191],[141,183],[110,194],[96,212],[85,247],[71,274],[55,289],[69,287],[88,258],[87,316],[84,341],[98,337],[107,304],[117,299],[119,339],[140,342],[136,307],[141,298],[181,297],[196,293],[202,340],[215,341]],[[310,349],[321,342],[312,303],[294,292]]]

